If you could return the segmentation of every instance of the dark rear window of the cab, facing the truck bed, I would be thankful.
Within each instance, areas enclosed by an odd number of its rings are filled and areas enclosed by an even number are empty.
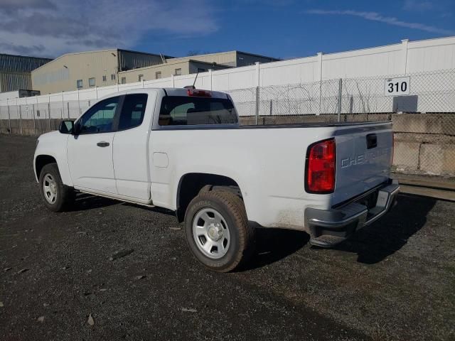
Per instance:
[[[234,104],[227,98],[165,96],[161,100],[160,126],[237,124]]]

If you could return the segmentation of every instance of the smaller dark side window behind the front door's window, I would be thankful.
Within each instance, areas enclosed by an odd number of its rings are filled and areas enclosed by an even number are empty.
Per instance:
[[[119,119],[119,130],[140,126],[144,121],[147,94],[127,94]]]

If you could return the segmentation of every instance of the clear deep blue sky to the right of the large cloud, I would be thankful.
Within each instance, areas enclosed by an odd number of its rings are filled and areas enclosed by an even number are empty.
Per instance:
[[[151,39],[134,48],[171,55],[243,50],[294,58],[388,45],[405,38],[455,36],[455,0],[220,1],[212,11],[216,28],[205,36],[151,33]]]

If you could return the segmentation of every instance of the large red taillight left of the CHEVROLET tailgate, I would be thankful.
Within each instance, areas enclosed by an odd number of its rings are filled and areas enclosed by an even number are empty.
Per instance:
[[[335,140],[317,142],[306,153],[305,190],[308,193],[332,193],[335,190]]]

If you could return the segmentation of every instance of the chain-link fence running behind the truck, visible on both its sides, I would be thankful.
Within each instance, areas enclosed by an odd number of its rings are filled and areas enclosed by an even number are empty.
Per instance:
[[[455,70],[225,91],[242,125],[393,121],[396,171],[455,175]],[[95,99],[0,106],[0,133],[38,136]]]

